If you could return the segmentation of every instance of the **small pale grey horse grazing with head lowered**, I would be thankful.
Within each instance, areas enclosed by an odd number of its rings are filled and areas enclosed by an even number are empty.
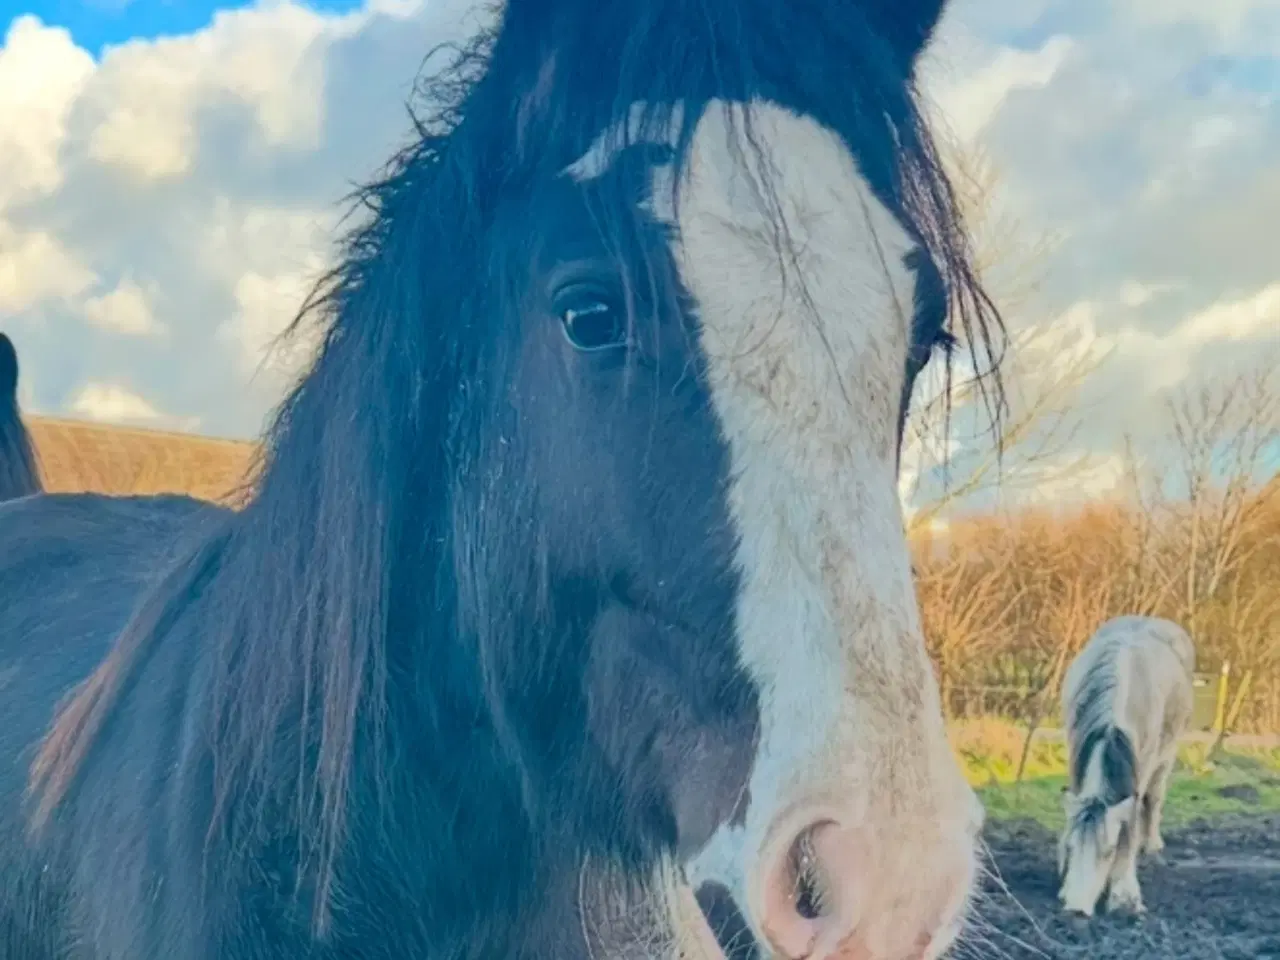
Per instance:
[[[1059,900],[1092,916],[1142,914],[1138,854],[1157,854],[1178,739],[1192,716],[1196,650],[1160,617],[1108,620],[1071,662],[1062,685],[1070,786],[1059,841]]]

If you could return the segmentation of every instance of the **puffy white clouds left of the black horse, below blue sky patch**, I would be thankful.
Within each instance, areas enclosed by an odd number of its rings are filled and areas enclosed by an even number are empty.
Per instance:
[[[472,31],[474,6],[260,0],[99,61],[63,29],[14,20],[0,47],[0,316],[32,333],[32,408],[200,411],[205,429],[256,433],[307,349],[264,366],[268,344],[332,264],[346,195],[411,134],[422,58]]]

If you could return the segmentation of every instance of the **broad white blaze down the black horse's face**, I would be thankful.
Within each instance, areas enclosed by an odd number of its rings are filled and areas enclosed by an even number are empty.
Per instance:
[[[568,174],[676,143],[648,113],[635,105]],[[868,836],[850,868],[860,940],[893,955],[942,931],[941,952],[975,877],[980,806],[946,739],[897,498],[918,244],[838,136],[776,104],[713,100],[678,204],[673,169],[654,168],[644,209],[671,228],[699,320],[730,457],[736,645],[760,696],[744,823],[690,876],[722,883],[763,940],[767,845],[810,826],[787,823],[796,810],[826,817]]]

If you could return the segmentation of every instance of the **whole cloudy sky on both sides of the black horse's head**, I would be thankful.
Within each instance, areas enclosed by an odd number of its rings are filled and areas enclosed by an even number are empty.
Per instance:
[[[264,346],[470,4],[4,9],[0,328],[28,408],[253,435]],[[993,242],[1052,241],[1011,325],[1107,355],[1075,438],[1105,486],[1121,433],[1157,443],[1160,389],[1280,347],[1280,3],[955,0],[925,76],[996,175]]]

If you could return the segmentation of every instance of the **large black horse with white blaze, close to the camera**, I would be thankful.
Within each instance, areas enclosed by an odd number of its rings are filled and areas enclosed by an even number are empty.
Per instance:
[[[507,0],[356,195],[242,508],[0,507],[18,956],[947,948],[982,808],[896,475],[961,338],[998,421],[1004,328],[942,9]]]

